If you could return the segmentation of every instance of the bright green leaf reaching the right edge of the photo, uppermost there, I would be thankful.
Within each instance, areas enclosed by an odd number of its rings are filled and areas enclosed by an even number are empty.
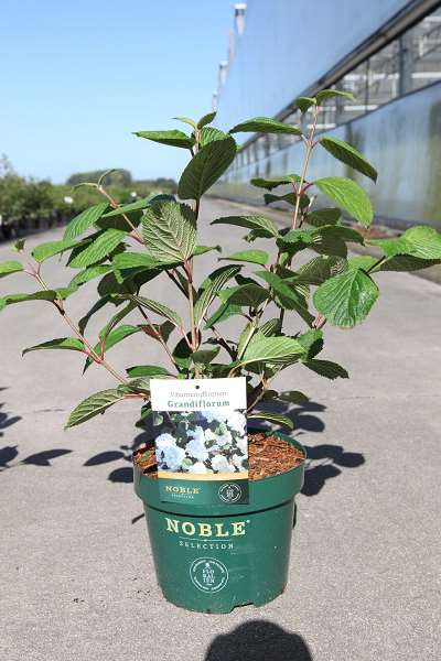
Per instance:
[[[411,227],[396,239],[370,239],[387,257],[408,254],[419,259],[441,259],[441,234],[423,225]]]

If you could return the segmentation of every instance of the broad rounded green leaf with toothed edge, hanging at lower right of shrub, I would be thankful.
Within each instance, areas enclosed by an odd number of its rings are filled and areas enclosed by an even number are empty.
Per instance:
[[[359,269],[330,278],[314,293],[314,305],[333,326],[351,328],[368,315],[378,297],[378,288]]]

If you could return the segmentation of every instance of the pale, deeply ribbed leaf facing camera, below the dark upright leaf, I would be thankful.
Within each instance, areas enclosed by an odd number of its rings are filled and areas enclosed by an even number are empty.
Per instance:
[[[160,262],[182,262],[196,247],[196,218],[186,204],[160,202],[142,218],[143,239],[150,254]]]

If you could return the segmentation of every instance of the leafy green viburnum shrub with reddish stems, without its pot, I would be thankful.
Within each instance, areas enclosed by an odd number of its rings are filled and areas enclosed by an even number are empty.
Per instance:
[[[103,413],[126,399],[139,399],[141,416],[151,413],[150,378],[191,379],[195,377],[246,376],[249,420],[290,426],[291,421],[278,412],[259,412],[265,400],[301,403],[299,391],[278,392],[271,380],[288,366],[298,364],[335,379],[346,378],[340,365],[320,358],[325,324],[348,328],[365,319],[378,297],[375,281],[381,271],[413,271],[441,262],[441,235],[430,227],[412,227],[394,239],[366,242],[379,247],[383,256],[348,257],[347,243],[365,242],[356,227],[343,224],[346,216],[367,227],[373,208],[364,189],[345,176],[311,180],[309,165],[315,150],[326,150],[348,169],[374,182],[376,170],[353,147],[332,136],[316,134],[320,106],[333,96],[351,97],[337,90],[323,90],[315,98],[302,97],[297,106],[305,115],[306,132],[291,124],[257,117],[235,126],[228,133],[208,126],[215,113],[200,121],[176,118],[190,124],[180,130],[140,131],[136,136],[165,145],[187,150],[189,163],[172,195],[149,196],[132,204],[118,205],[105,188],[106,174],[94,186],[103,202],[86,209],[66,227],[60,241],[42,243],[26,253],[24,241],[15,243],[23,261],[0,264],[0,277],[24,272],[37,289],[31,293],[7,294],[0,308],[25,301],[42,301],[60,314],[68,327],[66,337],[51,339],[23,351],[64,349],[85,356],[86,369],[93,362],[106,369],[116,380],[112,388],[90,394],[71,413],[67,426],[74,426]],[[246,228],[245,240],[265,239],[270,251],[244,247],[214,264],[204,278],[197,270],[201,254],[218,247],[197,242],[197,224],[203,195],[233,163],[238,148],[233,136],[240,132],[295,136],[303,142],[304,160],[300,174],[275,178],[255,178],[251,184],[268,191],[265,203],[283,201],[292,207],[290,227],[279,229],[256,212],[249,216],[216,218],[212,225]],[[83,184],[84,185],[84,184]],[[282,194],[273,189],[282,187]],[[288,192],[287,192],[288,191]],[[320,206],[315,205],[319,195]],[[323,206],[323,199],[336,206]],[[312,252],[310,259],[299,253]],[[61,267],[75,275],[66,286],[53,289],[44,277],[46,260],[67,252]],[[213,252],[214,262],[217,254]],[[275,254],[272,259],[270,254]],[[151,297],[154,280],[166,274],[170,290],[186,300],[187,318],[169,307],[161,288],[161,302]],[[68,299],[84,283],[99,279],[96,300],[78,321],[68,313]],[[87,333],[90,317],[109,308],[109,321],[98,338]],[[111,312],[110,312],[111,311]],[[130,323],[127,317],[130,315]],[[225,337],[223,323],[234,317],[237,333]],[[110,349],[139,333],[142,345],[137,356],[149,347],[144,342],[160,343],[169,367],[136,365],[119,373],[109,361]]]

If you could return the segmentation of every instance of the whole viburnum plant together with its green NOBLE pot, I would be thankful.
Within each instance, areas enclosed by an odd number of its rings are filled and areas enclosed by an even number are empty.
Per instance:
[[[190,124],[183,131],[141,131],[137,136],[189,151],[189,163],[179,182],[178,198],[154,195],[131,204],[118,205],[104,185],[96,188],[103,202],[75,217],[60,241],[42,243],[26,253],[24,241],[15,250],[24,260],[0,264],[0,275],[24,271],[36,283],[31,293],[0,299],[0,308],[24,301],[50,303],[69,327],[66,337],[30,347],[33,350],[64,349],[85,356],[85,369],[93,362],[115,379],[112,388],[80,402],[71,413],[67,427],[104,413],[127,399],[139,400],[141,420],[152,415],[150,379],[236,378],[247,380],[249,444],[249,502],[202,506],[164,502],[155,479],[153,442],[135,453],[135,488],[143,500],[159,582],[168,599],[189,609],[228,613],[237,605],[265,604],[286,586],[292,531],[293,499],[303,479],[304,449],[291,436],[279,432],[254,431],[255,421],[263,420],[292,427],[290,419],[271,411],[277,402],[304,402],[297,390],[279,392],[273,379],[293,364],[327,378],[347,378],[340,365],[322,359],[325,324],[351,328],[365,319],[378,297],[375,277],[383,271],[412,271],[441,261],[441,236],[429,227],[412,227],[395,239],[370,240],[357,227],[342,220],[342,209],[361,226],[373,219],[373,208],[364,189],[353,180],[327,176],[311,180],[309,165],[316,149],[325,149],[374,182],[373,165],[353,147],[331,136],[316,134],[321,104],[346,93],[324,90],[315,98],[299,98],[298,108],[309,118],[301,129],[270,118],[254,118],[228,133],[211,127],[215,113],[200,121],[179,118]],[[306,122],[305,122],[306,123]],[[239,226],[248,230],[248,243],[262,239],[268,251],[245,246],[233,254],[223,254],[226,263],[215,264],[201,277],[197,260],[218,247],[197,243],[197,223],[203,195],[233,163],[239,132],[287,133],[304,143],[300,174],[255,178],[251,184],[265,193],[266,204],[284,202],[292,209],[291,225],[279,229],[273,221],[256,213],[216,218],[212,225]],[[281,194],[273,189],[281,187]],[[335,206],[316,206],[326,197]],[[381,248],[383,257],[349,257],[347,243],[365,240]],[[52,289],[44,279],[44,262],[68,252],[67,269],[76,274],[66,286]],[[312,252],[308,259],[304,254]],[[186,302],[189,321],[161,301],[151,297],[155,279],[165,277]],[[67,312],[67,300],[93,279],[99,279],[97,300],[77,323]],[[153,284],[152,284],[153,283]],[[158,295],[157,295],[158,297]],[[86,338],[90,317],[101,308],[114,307],[97,342]],[[131,323],[127,322],[130,315]],[[233,319],[233,338],[223,334],[223,323]],[[169,367],[136,365],[119,373],[108,358],[109,349],[140,333],[164,349]],[[146,338],[143,337],[143,340]],[[142,348],[142,350],[144,350]],[[259,404],[265,402],[265,411]],[[213,420],[212,420],[213,422]],[[217,424],[216,422],[214,423]],[[209,433],[215,435],[216,426]],[[214,431],[213,431],[214,430]],[[230,429],[224,429],[223,435]],[[215,453],[216,454],[216,453]],[[220,453],[222,454],[222,453]],[[185,455],[185,453],[184,453]],[[174,453],[187,465],[216,470],[223,463]],[[219,456],[219,453],[216,454]],[[208,460],[211,462],[208,468]],[[196,469],[194,469],[197,473]],[[189,483],[189,488],[197,485]],[[203,577],[208,576],[207,581]]]

